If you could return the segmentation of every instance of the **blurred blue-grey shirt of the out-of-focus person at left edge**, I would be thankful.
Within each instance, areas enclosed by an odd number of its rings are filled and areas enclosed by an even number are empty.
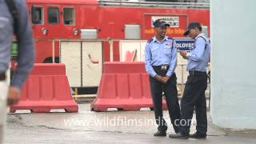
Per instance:
[[[26,1],[15,0],[14,5],[18,14],[18,69],[14,74],[11,86],[22,88],[33,64],[34,64],[34,41],[29,17],[26,11]],[[4,0],[0,0],[0,72],[8,69],[10,52],[13,43],[14,19]]]

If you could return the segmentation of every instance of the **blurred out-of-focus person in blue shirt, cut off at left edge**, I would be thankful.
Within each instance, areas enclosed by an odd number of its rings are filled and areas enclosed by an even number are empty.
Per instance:
[[[8,86],[6,70],[11,58],[13,34],[18,41],[18,67]],[[2,144],[7,106],[18,103],[22,85],[34,65],[34,39],[24,0],[0,0],[0,51],[0,144]]]

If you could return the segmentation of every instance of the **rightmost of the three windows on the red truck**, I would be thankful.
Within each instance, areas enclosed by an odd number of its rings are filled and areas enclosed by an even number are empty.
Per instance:
[[[74,8],[63,8],[63,22],[64,25],[74,25]]]

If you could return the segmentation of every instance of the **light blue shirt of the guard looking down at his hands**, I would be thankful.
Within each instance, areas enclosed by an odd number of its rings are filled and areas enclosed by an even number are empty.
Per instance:
[[[195,38],[194,49],[186,56],[188,58],[186,70],[206,71],[210,58],[209,39],[203,33],[198,34]]]

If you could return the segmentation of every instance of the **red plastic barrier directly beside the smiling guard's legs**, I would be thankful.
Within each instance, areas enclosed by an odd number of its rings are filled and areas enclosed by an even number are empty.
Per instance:
[[[144,62],[105,62],[91,110],[140,110],[143,107],[154,107]],[[166,109],[165,101],[163,107]]]

